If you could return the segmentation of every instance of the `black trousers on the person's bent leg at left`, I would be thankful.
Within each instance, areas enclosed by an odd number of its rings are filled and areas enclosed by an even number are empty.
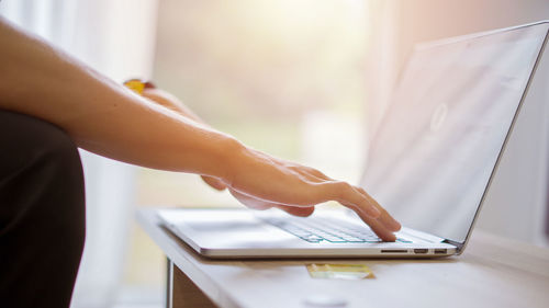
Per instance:
[[[85,214],[82,167],[68,135],[0,110],[1,307],[69,307]]]

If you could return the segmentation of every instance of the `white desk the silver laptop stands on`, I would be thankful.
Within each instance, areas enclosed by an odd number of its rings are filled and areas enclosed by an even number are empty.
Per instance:
[[[216,261],[163,228],[155,210],[138,220],[172,262],[172,307],[322,307],[306,304],[318,294],[346,303],[324,307],[549,307],[549,250],[479,231],[461,256],[438,260]],[[376,278],[314,280],[304,265],[313,262],[366,264]]]

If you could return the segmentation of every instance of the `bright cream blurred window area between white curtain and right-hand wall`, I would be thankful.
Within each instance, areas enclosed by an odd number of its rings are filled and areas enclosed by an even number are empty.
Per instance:
[[[159,1],[152,79],[245,144],[356,181],[366,101],[362,1]],[[139,206],[239,206],[195,175],[137,171]],[[164,283],[164,256],[132,227],[124,278]],[[150,289],[150,288],[148,288]]]

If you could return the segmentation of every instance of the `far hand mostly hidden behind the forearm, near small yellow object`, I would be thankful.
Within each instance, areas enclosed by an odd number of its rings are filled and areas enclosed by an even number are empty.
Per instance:
[[[144,89],[142,95],[192,121],[195,121],[202,125],[206,125],[204,121],[202,121],[198,115],[189,110],[181,101],[166,91],[163,91],[160,89]],[[223,181],[219,179],[206,175],[201,175],[201,178],[208,185],[210,185],[214,190],[224,191],[226,189],[226,185],[223,183]]]

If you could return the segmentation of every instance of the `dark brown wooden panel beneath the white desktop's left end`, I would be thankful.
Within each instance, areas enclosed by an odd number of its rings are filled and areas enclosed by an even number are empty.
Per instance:
[[[167,308],[216,307],[171,260],[167,259]]]

